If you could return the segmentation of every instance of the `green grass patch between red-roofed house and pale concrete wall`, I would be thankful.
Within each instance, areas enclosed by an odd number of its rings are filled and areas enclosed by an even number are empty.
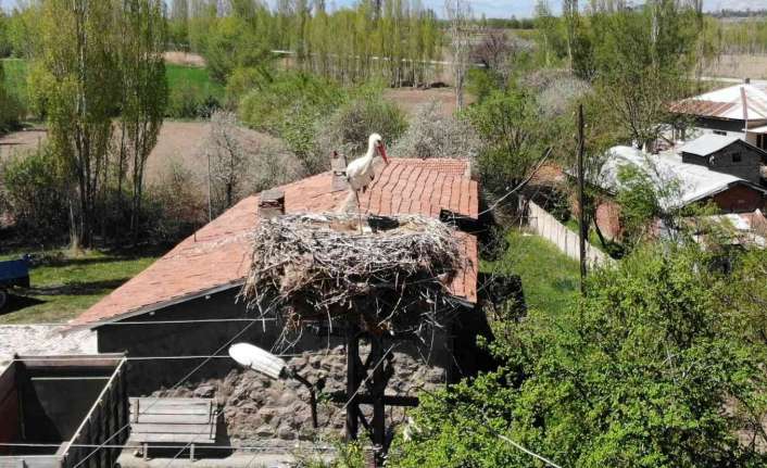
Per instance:
[[[512,229],[508,249],[495,262],[482,262],[481,270],[519,275],[528,307],[558,315],[578,296],[578,262],[540,236]]]

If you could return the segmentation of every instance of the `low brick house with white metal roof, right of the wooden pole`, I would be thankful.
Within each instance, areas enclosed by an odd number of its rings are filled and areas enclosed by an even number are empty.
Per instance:
[[[599,175],[590,180],[605,195],[596,207],[596,223],[606,238],[620,235],[620,207],[614,195],[620,189],[620,169],[627,165],[640,168],[661,189],[664,198],[658,202],[666,208],[712,202],[722,214],[764,211],[767,189],[754,181],[760,150],[728,137],[703,136],[678,151],[649,154],[630,147],[607,151]]]

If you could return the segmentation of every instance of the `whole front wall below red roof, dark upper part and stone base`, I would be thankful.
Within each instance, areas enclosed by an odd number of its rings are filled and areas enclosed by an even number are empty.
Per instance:
[[[155,313],[126,320],[190,320],[252,318],[236,302],[239,288],[187,301]],[[313,435],[309,393],[299,382],[273,381],[250,370],[240,369],[227,354],[225,344],[250,342],[273,350],[279,342],[281,326],[274,320],[257,321],[242,332],[250,321],[214,321],[172,325],[106,325],[97,330],[100,352],[126,351],[128,357],[150,357],[129,362],[130,396],[215,397],[222,408],[219,430],[224,443],[240,441],[294,441]],[[433,389],[462,375],[471,375],[489,359],[477,350],[477,333],[487,334],[487,321],[477,309],[466,309],[449,330],[458,337],[435,333],[428,343],[399,342],[394,349],[394,375],[387,394],[417,396],[420,389]],[[347,356],[341,330],[306,328],[292,346],[273,351],[286,354],[288,364],[312,382],[325,381],[320,396],[320,432],[341,433],[344,428],[342,404],[328,401],[332,392],[345,392]],[[453,343],[460,350],[453,353]],[[385,342],[388,349],[392,342]],[[363,346],[364,353],[364,343]],[[206,359],[221,350],[218,357]],[[199,356],[184,359],[156,359],[159,356]],[[198,368],[205,361],[202,367]],[[460,369],[460,372],[456,369]],[[197,369],[197,370],[196,370]],[[189,378],[185,378],[190,375]],[[183,380],[178,388],[174,385]],[[167,390],[174,388],[173,390]],[[387,409],[389,422],[402,420],[404,412]]]

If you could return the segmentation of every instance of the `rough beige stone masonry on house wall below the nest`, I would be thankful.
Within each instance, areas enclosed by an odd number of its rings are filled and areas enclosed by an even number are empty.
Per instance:
[[[296,380],[271,380],[252,370],[231,369],[223,378],[206,379],[173,391],[160,390],[153,395],[215,397],[226,438],[235,445],[338,437],[343,433],[345,413],[342,404],[331,402],[329,395],[345,391],[347,362],[342,346],[329,353],[326,356],[305,353],[288,359],[289,366],[309,381],[325,381],[317,395],[319,428],[316,432],[312,428],[309,391]],[[433,390],[445,381],[443,368],[423,366],[408,353],[398,352],[394,359],[394,375],[387,394],[415,396],[419,389]],[[404,417],[403,408],[389,408],[387,426],[395,426],[404,421]]]

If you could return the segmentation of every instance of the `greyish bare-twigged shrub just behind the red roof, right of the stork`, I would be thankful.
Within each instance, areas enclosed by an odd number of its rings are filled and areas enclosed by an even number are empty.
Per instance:
[[[441,112],[439,101],[418,109],[407,130],[391,148],[394,157],[452,157],[474,160],[481,141],[471,125]]]

